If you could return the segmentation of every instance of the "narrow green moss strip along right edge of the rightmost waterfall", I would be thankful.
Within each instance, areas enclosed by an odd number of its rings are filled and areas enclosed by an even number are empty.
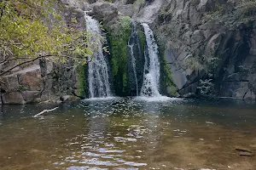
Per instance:
[[[158,42],[158,46],[160,55],[160,90],[162,93],[167,94],[166,88],[169,87],[171,88],[171,94],[169,95],[176,96],[177,88],[172,80],[172,74],[166,61],[165,48],[160,42]]]

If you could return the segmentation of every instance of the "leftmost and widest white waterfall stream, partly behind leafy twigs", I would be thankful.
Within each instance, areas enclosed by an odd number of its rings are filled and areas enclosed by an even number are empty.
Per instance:
[[[90,98],[105,98],[111,96],[108,81],[108,65],[102,52],[102,31],[97,20],[84,14],[86,30],[90,32],[90,41],[94,42],[92,60],[89,62],[89,91]]]

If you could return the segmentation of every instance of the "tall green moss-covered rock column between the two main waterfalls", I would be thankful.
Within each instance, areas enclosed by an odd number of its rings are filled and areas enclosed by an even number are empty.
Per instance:
[[[127,44],[131,36],[131,18],[119,17],[119,22],[109,28],[113,87],[116,94],[125,95],[127,86]]]

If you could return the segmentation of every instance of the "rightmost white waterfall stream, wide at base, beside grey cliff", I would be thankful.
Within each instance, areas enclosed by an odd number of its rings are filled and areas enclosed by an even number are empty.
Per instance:
[[[142,24],[146,36],[148,54],[145,53],[142,96],[160,96],[160,61],[158,59],[158,46],[154,40],[153,31],[145,23]]]

